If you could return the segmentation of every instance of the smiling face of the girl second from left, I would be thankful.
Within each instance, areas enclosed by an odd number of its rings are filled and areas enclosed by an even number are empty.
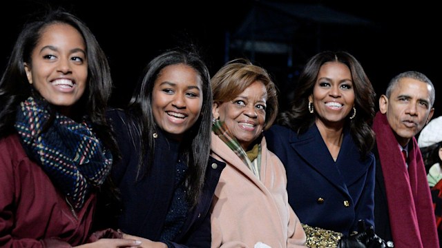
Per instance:
[[[202,80],[184,64],[168,65],[155,80],[152,112],[155,123],[177,141],[198,121],[202,107]]]

